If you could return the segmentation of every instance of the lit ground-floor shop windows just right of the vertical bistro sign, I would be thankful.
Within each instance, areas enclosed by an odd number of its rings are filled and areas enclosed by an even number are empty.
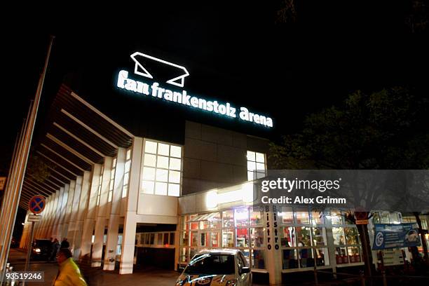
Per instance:
[[[283,269],[329,266],[328,231],[332,231],[337,264],[360,262],[357,229],[352,224],[345,224],[348,221],[343,219],[341,211],[308,212],[303,207],[297,207],[283,210],[279,215]]]

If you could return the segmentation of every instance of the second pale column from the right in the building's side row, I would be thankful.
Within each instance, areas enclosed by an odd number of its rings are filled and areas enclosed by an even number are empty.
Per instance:
[[[109,224],[107,226],[107,242],[103,267],[104,270],[115,269],[116,247],[118,245],[119,216],[121,213],[123,173],[125,171],[125,153],[125,149],[118,148],[118,156],[116,156],[114,190],[113,197],[111,199]]]

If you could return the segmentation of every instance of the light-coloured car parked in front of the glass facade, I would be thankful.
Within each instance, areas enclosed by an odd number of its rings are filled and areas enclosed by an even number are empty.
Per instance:
[[[252,273],[240,250],[201,250],[177,278],[176,286],[250,286]]]

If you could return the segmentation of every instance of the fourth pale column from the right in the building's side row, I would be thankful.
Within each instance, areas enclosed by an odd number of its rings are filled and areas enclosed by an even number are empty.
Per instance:
[[[90,254],[95,225],[95,208],[97,207],[98,185],[100,184],[100,173],[102,165],[93,166],[93,177],[91,179],[90,191],[88,196],[88,211],[83,219],[83,232],[81,242],[81,256]]]

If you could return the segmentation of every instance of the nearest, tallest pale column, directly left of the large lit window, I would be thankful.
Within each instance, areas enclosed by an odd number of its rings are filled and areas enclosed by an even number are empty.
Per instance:
[[[139,195],[140,168],[142,162],[143,138],[135,137],[131,150],[130,184],[125,203],[123,238],[119,274],[132,273],[137,227],[137,198]]]

